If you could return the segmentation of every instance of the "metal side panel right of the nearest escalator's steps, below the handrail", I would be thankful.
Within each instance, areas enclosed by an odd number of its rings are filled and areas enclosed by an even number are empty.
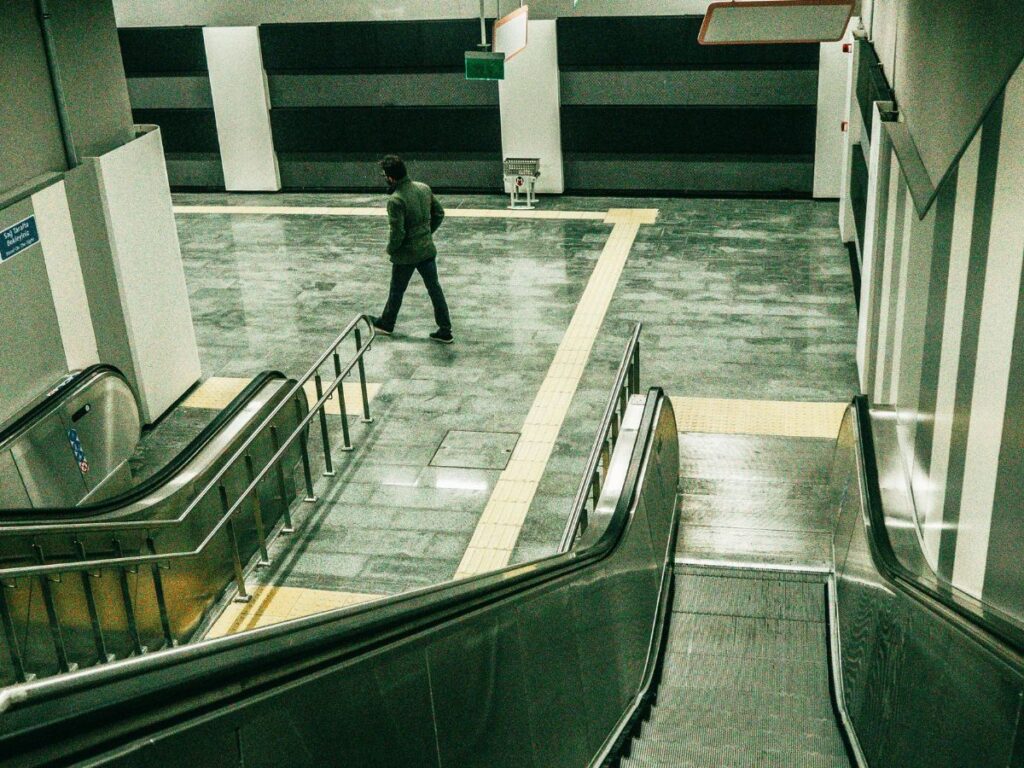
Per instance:
[[[855,428],[844,422],[844,431]],[[840,439],[848,449],[857,442]],[[842,684],[868,764],[1011,765],[1024,678],[963,625],[882,577],[868,540],[864,481],[852,469],[862,459],[837,466],[834,479],[846,484],[836,535]]]

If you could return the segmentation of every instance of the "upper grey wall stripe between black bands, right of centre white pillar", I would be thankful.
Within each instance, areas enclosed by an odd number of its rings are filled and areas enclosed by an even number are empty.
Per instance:
[[[817,70],[650,70],[563,72],[563,104],[806,105]]]

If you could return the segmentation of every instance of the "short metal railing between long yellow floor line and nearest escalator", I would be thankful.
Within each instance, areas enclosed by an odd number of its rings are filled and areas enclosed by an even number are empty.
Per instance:
[[[604,409],[604,416],[601,417],[601,424],[598,427],[597,437],[594,445],[590,450],[590,457],[587,459],[587,469],[584,471],[583,479],[572,501],[572,510],[569,519],[565,523],[565,530],[562,532],[562,540],[558,545],[558,552],[566,552],[587,530],[590,512],[597,506],[601,497],[601,486],[608,474],[608,466],[611,462],[611,454],[614,451],[615,442],[618,439],[618,432],[623,424],[623,417],[626,414],[626,407],[629,404],[630,395],[640,392],[640,331],[643,330],[643,323],[637,323],[633,327],[626,351],[623,353],[623,360],[618,365],[618,372],[615,374],[615,381],[611,387],[611,395],[608,397],[608,404]]]

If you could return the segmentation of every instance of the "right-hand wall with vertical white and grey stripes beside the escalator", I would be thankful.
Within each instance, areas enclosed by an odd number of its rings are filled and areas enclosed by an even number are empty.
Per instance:
[[[885,111],[859,105],[878,144],[858,233],[862,385],[894,410],[929,561],[1024,622],[1024,68],[924,219]]]

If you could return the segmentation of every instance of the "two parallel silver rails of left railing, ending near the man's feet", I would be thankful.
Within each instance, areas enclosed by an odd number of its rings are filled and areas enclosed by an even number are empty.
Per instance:
[[[303,387],[309,381],[312,381],[314,377],[318,376],[318,371],[321,366],[324,365],[327,359],[337,351],[338,347],[341,345],[345,339],[348,338],[353,332],[358,334],[358,325],[362,323],[367,326],[369,330],[369,336],[366,341],[360,341],[360,346],[357,352],[351,358],[347,366],[340,368],[335,379],[329,384],[324,390],[324,395],[308,409],[306,415],[300,420],[299,427],[293,432],[288,438],[283,442],[279,451],[269,460],[266,467],[263,468],[255,477],[255,479],[249,483],[249,485],[243,490],[238,500],[230,506],[229,509],[225,510],[222,514],[220,520],[214,525],[213,529],[207,535],[207,537],[200,544],[200,547],[190,551],[181,551],[175,553],[165,553],[161,555],[135,555],[126,557],[104,557],[99,559],[86,559],[79,560],[76,563],[53,563],[50,565],[39,565],[35,568],[32,567],[16,567],[0,570],[0,575],[7,577],[19,577],[19,575],[42,575],[43,573],[57,573],[61,571],[69,570],[81,570],[83,566],[88,567],[108,567],[116,565],[124,566],[135,566],[142,563],[162,563],[166,562],[168,559],[174,559],[178,557],[193,557],[195,555],[201,554],[206,548],[207,544],[213,538],[213,536],[219,532],[224,525],[230,520],[232,515],[238,511],[239,506],[242,502],[249,498],[249,496],[256,489],[256,486],[263,480],[265,474],[270,470],[274,464],[282,459],[282,457],[291,447],[292,442],[299,432],[306,430],[309,422],[312,420],[316,412],[325,406],[327,400],[333,396],[334,391],[341,386],[341,382],[344,380],[352,369],[357,365],[361,364],[362,357],[367,350],[370,348],[374,338],[376,338],[376,331],[374,330],[373,321],[369,315],[358,314],[353,317],[345,329],[335,338],[334,342],[328,346],[328,348],[321,354],[316,361],[309,368],[309,370],[298,379],[292,389],[287,395],[282,397],[280,402],[273,408],[273,410],[263,419],[258,427],[256,427],[248,438],[239,446],[239,449],[231,455],[231,457],[224,462],[223,466],[210,478],[209,482],[193,498],[191,502],[178,514],[177,517],[170,517],[163,520],[126,520],[122,522],[55,522],[55,523],[27,523],[22,525],[5,526],[0,525],[0,536],[6,534],[25,535],[25,534],[67,534],[70,530],[80,530],[80,531],[125,531],[125,530],[142,530],[150,531],[159,528],[170,528],[181,524],[188,519],[188,516],[193,511],[202,504],[206,498],[217,492],[220,482],[223,480],[224,476],[240,462],[245,460],[249,449],[252,444],[259,439],[259,437],[268,430],[272,424],[273,420],[279,416],[283,409],[285,409],[291,401],[302,393],[302,399],[305,399],[305,390]],[[361,375],[361,369],[360,369]],[[31,571],[31,572],[29,572]]]

